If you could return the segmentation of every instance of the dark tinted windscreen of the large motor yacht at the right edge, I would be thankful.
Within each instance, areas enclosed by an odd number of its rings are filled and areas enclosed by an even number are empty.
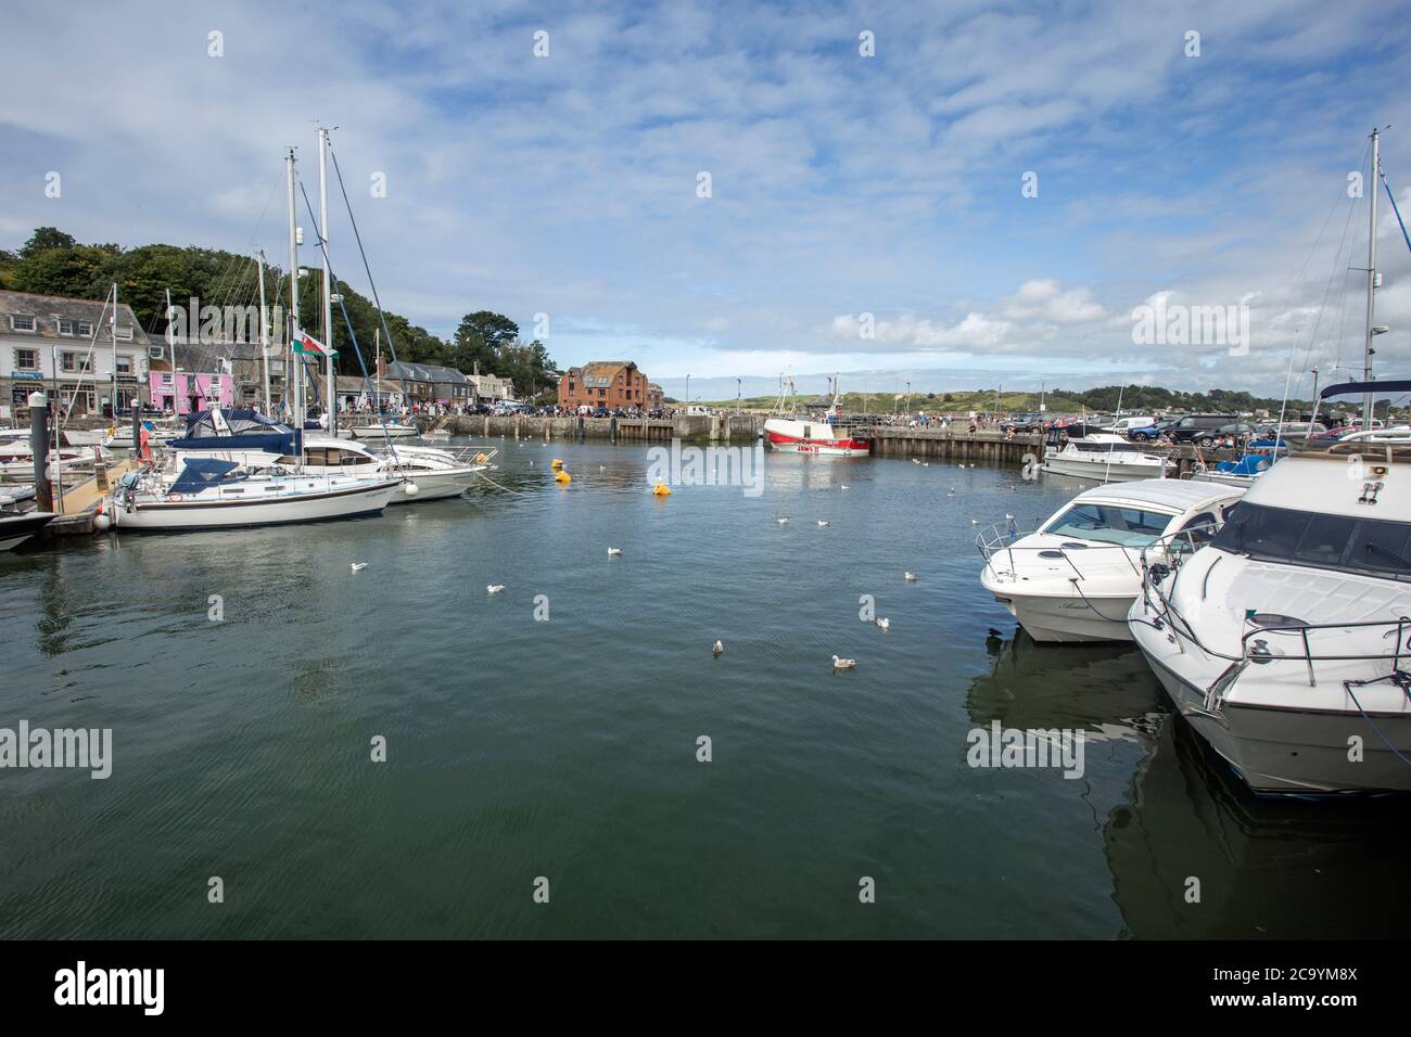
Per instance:
[[[1212,546],[1260,562],[1411,577],[1411,523],[1405,522],[1240,502]]]

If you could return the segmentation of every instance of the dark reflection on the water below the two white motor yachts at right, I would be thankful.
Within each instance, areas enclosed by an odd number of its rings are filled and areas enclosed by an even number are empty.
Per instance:
[[[1170,711],[1129,646],[1038,645],[996,629],[986,650],[991,672],[965,698],[974,722],[1088,732],[1085,799],[1101,818],[1122,916],[1115,935],[1404,935],[1407,799],[1254,796]],[[1103,755],[1095,739],[1140,753]],[[1198,902],[1188,900],[1189,879]]]

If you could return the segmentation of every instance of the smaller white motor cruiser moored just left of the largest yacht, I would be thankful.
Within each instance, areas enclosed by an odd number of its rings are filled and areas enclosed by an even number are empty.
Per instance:
[[[981,584],[1034,641],[1130,641],[1141,550],[1182,530],[1177,550],[1212,535],[1242,494],[1175,478],[1085,490],[1037,532],[981,533]]]

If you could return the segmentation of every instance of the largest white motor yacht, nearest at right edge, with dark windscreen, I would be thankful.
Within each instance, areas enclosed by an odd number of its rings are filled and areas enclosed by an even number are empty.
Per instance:
[[[1322,395],[1370,391],[1411,381]],[[1129,626],[1254,790],[1411,792],[1411,436],[1278,461],[1208,545],[1147,559]]]

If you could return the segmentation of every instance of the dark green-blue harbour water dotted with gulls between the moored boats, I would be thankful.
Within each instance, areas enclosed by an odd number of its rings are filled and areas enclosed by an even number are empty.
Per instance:
[[[653,498],[645,447],[492,444],[467,499],[0,556],[0,727],[113,731],[107,780],[0,770],[0,935],[1405,933],[1404,801],[1259,800],[1136,650],[986,600],[972,522],[1077,483],[770,454]],[[969,766],[996,720],[1085,731],[1082,776]]]

